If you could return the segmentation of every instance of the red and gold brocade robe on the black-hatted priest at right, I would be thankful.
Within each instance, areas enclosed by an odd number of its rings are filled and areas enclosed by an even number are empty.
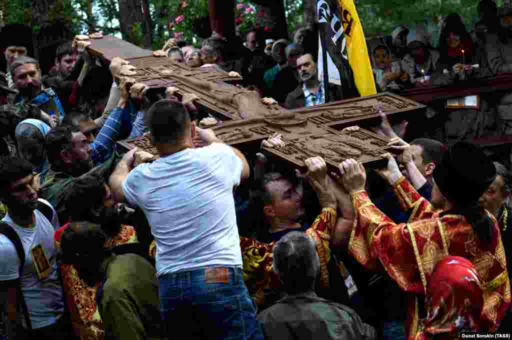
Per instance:
[[[463,188],[461,188],[463,189]],[[409,223],[395,224],[371,202],[366,191],[352,195],[355,212],[349,252],[368,269],[381,266],[406,292],[409,302],[408,339],[421,329],[418,310],[434,266],[445,256],[460,256],[475,266],[482,283],[482,326],[496,331],[510,306],[505,250],[495,221],[493,239],[482,245],[473,227],[460,215],[444,215],[422,198],[405,178],[394,186]]]

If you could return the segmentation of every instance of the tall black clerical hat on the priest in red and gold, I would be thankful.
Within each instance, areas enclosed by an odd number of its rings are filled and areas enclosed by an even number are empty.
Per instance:
[[[471,206],[496,178],[493,162],[476,145],[458,142],[434,169],[434,180],[443,196],[459,207]]]

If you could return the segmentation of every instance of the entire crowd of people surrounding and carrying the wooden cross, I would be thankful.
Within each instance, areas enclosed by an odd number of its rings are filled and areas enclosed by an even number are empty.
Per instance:
[[[491,4],[479,6],[484,45],[457,15],[446,19],[439,52],[400,27],[395,50],[372,52],[378,86],[508,72],[512,10]],[[318,81],[314,28],[286,38],[253,30],[242,48],[214,33],[201,49],[170,39],[154,55],[236,72],[263,104],[295,109],[323,104],[327,93],[331,101],[358,95]],[[510,332],[509,164],[464,141],[407,141],[407,124],[391,126],[380,113],[372,129],[398,155],[383,155],[382,168],[348,159],[334,171],[318,155],[301,172],[226,145],[205,128],[212,117],[197,96],[179,100],[175,88],[147,95],[129,62],[91,56],[86,40],[60,46],[44,75],[23,39],[2,43],[0,336]],[[135,137],[158,155],[116,144]],[[286,146],[279,134],[262,145]]]

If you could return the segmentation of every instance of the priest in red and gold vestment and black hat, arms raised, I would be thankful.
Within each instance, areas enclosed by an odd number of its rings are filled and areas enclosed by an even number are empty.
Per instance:
[[[435,168],[430,203],[418,195],[388,155],[388,168],[381,174],[393,185],[402,207],[412,211],[408,223],[403,224],[391,221],[369,199],[362,164],[350,159],[339,169],[355,213],[352,230],[348,230],[349,252],[369,270],[385,269],[411,293],[408,339],[424,334],[428,282],[436,264],[447,256],[473,264],[483,293],[480,331],[496,331],[510,306],[510,283],[496,220],[478,205],[496,177],[492,161],[473,144],[453,145]],[[451,338],[461,330],[454,329]]]

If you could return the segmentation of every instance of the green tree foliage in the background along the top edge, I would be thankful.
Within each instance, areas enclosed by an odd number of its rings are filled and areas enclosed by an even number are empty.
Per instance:
[[[104,34],[119,32],[118,0],[45,0],[52,3],[48,13],[34,13],[35,4],[42,0],[0,0],[3,24],[24,23],[31,25],[36,33],[41,23],[61,20],[72,23],[77,33],[86,33],[97,28]],[[294,32],[304,25],[303,0],[281,0],[284,3],[288,30]],[[306,1],[306,0],[304,0]],[[478,20],[476,6],[479,0],[355,0],[365,34],[368,37],[389,35],[400,25],[425,24],[436,26],[439,20],[452,12],[460,14],[468,29]],[[263,0],[237,0],[252,8]],[[208,16],[207,0],[149,0],[152,17],[153,48],[158,49],[164,42],[182,33],[188,41],[199,42],[198,29],[204,26]],[[184,5],[185,4],[185,5]],[[503,0],[497,0],[498,6]],[[91,5],[93,10],[91,11]],[[237,17],[241,14],[237,11]],[[243,16],[242,15],[242,16]],[[254,13],[252,13],[254,15]],[[181,17],[181,18],[180,18]],[[178,22],[176,19],[178,19]],[[226,18],[228,19],[228,18]],[[202,21],[201,21],[202,20]],[[248,28],[253,18],[247,15],[242,30]],[[132,29],[134,41],[141,40],[141,27]]]

